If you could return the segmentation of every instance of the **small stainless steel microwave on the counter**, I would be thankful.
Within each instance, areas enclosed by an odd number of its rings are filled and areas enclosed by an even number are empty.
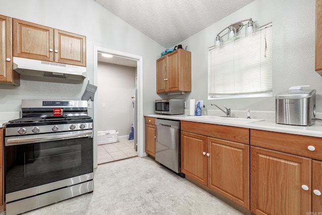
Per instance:
[[[155,100],[154,112],[159,114],[184,114],[184,100],[183,99],[163,99]]]

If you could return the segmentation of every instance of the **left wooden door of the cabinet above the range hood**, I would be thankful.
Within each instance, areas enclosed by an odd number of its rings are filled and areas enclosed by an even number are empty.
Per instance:
[[[53,61],[53,29],[13,19],[13,50],[15,57]]]

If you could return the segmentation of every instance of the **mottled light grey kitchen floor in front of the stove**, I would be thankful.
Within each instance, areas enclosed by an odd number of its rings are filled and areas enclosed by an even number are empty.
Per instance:
[[[93,193],[24,214],[241,215],[243,213],[158,165],[150,157],[134,157],[99,165],[94,172]]]

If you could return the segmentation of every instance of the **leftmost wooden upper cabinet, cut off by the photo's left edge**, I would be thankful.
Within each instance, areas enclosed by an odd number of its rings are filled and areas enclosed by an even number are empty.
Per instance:
[[[20,85],[12,67],[12,18],[0,15],[0,84]]]

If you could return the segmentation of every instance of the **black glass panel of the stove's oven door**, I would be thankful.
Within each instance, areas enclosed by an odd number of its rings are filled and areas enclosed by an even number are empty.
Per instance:
[[[93,138],[6,146],[6,193],[93,172]]]

